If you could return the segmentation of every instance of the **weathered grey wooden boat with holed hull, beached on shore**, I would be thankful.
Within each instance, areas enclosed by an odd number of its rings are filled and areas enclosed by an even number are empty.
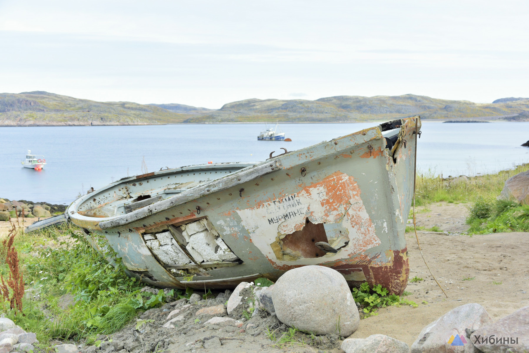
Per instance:
[[[420,128],[409,117],[256,164],[124,178],[66,215],[94,247],[112,247],[131,276],[158,287],[230,288],[322,265],[351,286],[402,293]]]

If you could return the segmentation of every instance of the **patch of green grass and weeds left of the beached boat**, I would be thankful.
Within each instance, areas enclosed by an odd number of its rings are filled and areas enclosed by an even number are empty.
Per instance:
[[[15,237],[14,246],[20,252],[26,293],[31,292],[31,295],[23,300],[24,315],[7,310],[6,303],[2,305],[6,317],[24,330],[35,332],[41,343],[54,338],[86,338],[87,342],[94,342],[98,334],[120,330],[138,313],[166,301],[163,291],[156,295],[140,293],[144,284],[125,275],[121,260],[116,259],[114,253],[99,254],[79,234],[77,228],[62,225]],[[51,240],[57,241],[60,236],[70,236],[77,242],[48,247]],[[113,259],[115,267],[106,257]],[[0,273],[4,277],[8,275],[1,257]],[[63,310],[59,306],[60,297],[66,293],[71,294],[73,300]],[[189,294],[178,291],[172,295]]]

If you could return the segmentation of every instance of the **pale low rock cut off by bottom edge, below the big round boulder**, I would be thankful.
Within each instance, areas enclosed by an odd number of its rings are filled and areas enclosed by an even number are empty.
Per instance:
[[[385,334],[372,334],[367,338],[346,338],[342,342],[345,353],[409,353],[409,346]]]

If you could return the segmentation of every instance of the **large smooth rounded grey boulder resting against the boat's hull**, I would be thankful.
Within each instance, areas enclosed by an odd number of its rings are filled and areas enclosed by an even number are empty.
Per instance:
[[[349,336],[360,315],[345,278],[324,266],[303,266],[279,277],[272,291],[279,321],[315,334]]]

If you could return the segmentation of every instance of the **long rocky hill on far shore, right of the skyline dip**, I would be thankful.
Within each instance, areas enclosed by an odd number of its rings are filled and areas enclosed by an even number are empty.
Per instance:
[[[315,101],[252,98],[227,103],[220,110],[191,116],[185,122],[372,121],[397,119],[411,115],[421,115],[424,119],[454,120],[487,117],[492,120],[523,111],[529,111],[529,99],[527,98],[488,104],[449,101],[413,94],[375,97],[335,96]]]

